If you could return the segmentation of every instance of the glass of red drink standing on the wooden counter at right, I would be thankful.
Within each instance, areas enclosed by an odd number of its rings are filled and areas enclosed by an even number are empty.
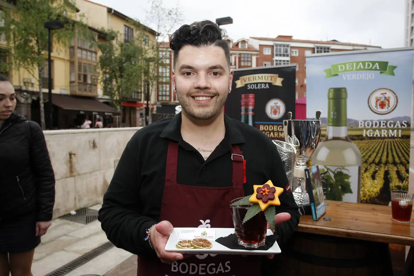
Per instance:
[[[406,191],[391,192],[392,220],[400,223],[410,223],[413,209],[414,194]]]

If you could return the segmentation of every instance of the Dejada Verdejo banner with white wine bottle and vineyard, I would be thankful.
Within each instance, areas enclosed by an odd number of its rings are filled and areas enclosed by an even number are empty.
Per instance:
[[[389,205],[408,190],[414,48],[306,57],[308,120],[322,111],[319,165],[326,199]]]

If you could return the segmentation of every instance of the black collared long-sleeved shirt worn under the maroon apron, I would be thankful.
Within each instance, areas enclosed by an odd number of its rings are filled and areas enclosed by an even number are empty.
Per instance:
[[[177,182],[182,185],[229,187],[232,185],[231,146],[238,144],[246,159],[246,196],[253,185],[285,188],[288,183],[276,146],[265,134],[243,122],[224,115],[226,134],[205,161],[181,136],[181,113],[154,122],[137,131],[128,142],[103,197],[99,221],[108,239],[116,247],[133,254],[148,254],[146,229],[158,222],[165,184],[169,141],[178,142]],[[202,137],[200,137],[202,139]],[[277,226],[279,243],[288,239],[299,223],[298,206],[292,193],[279,196],[276,212],[288,212],[291,219]]]

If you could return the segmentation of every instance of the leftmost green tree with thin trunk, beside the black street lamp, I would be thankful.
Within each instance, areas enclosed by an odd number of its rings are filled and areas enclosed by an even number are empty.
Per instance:
[[[48,30],[44,23],[60,20],[65,23],[59,30],[53,30],[53,44],[68,45],[77,31],[86,28],[78,21],[79,14],[72,0],[17,0],[15,5],[5,6],[4,26],[0,31],[6,35],[12,56],[11,66],[22,67],[39,82],[41,126],[45,130],[45,115],[42,94],[42,75],[48,60]],[[55,47],[56,49],[56,47]],[[60,49],[57,49],[60,51]]]

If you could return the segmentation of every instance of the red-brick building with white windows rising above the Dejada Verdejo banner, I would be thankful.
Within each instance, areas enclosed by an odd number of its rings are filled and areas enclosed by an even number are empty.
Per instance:
[[[256,66],[296,63],[296,98],[306,97],[306,55],[380,48],[379,46],[343,43],[337,40],[301,40],[294,39],[293,36],[250,37],[249,43],[259,50]]]

